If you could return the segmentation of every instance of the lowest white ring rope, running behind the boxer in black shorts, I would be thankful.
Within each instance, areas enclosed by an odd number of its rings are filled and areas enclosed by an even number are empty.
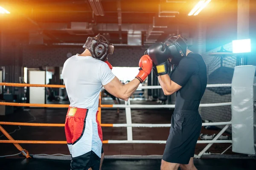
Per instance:
[[[157,141],[157,140],[108,140],[109,144],[114,143],[151,143],[151,144],[166,144],[166,141]],[[198,144],[202,143],[232,143],[232,140],[206,140],[206,141],[198,141]]]

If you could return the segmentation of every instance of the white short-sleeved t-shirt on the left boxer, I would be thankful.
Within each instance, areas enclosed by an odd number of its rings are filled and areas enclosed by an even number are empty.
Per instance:
[[[62,77],[70,107],[97,111],[102,85],[111,82],[115,75],[105,62],[76,54],[64,63]]]

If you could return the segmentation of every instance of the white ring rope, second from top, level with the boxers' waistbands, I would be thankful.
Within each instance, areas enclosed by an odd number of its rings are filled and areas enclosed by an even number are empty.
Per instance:
[[[231,102],[200,104],[199,107],[228,106],[228,105],[231,105]],[[175,105],[112,105],[111,107],[101,107],[101,108],[175,108]]]

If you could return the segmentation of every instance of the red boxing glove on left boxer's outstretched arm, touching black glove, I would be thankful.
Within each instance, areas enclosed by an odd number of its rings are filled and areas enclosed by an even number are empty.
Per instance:
[[[143,83],[144,80],[148,77],[148,74],[151,73],[153,62],[148,55],[144,55],[140,58],[139,66],[140,72],[136,78],[140,80],[140,83]]]

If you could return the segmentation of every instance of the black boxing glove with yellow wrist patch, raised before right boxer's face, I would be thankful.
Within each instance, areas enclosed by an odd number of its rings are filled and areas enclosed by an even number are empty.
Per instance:
[[[170,51],[168,46],[162,42],[157,42],[148,47],[148,55],[153,61],[153,71],[156,74],[165,75],[168,74],[168,58]],[[157,75],[156,74],[156,75]]]

